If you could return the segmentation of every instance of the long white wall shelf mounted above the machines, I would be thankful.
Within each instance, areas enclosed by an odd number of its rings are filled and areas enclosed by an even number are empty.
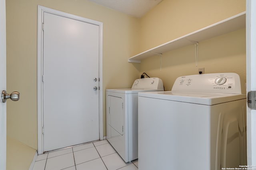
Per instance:
[[[146,59],[148,57],[152,57],[157,54],[162,54],[167,51],[171,51],[174,49],[178,49],[180,47],[185,47],[186,45],[193,44],[191,41],[204,41],[206,39],[210,39],[212,37],[216,37],[218,35],[222,35],[225,33],[230,33],[232,31],[236,31],[238,29],[242,29],[246,27],[246,12],[242,12],[226,20],[222,20],[220,22],[214,23],[147,51],[144,51],[138,55],[130,57],[128,62],[130,63],[140,63],[140,60]]]

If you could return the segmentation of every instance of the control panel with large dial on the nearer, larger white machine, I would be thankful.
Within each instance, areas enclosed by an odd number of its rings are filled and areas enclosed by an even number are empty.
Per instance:
[[[176,79],[172,91],[212,92],[228,94],[246,93],[244,81],[236,73],[212,73],[181,76]]]

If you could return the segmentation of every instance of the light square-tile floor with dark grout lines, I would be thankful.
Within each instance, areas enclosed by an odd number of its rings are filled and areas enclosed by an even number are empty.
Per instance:
[[[40,154],[33,170],[138,170],[138,160],[125,163],[103,140]]]

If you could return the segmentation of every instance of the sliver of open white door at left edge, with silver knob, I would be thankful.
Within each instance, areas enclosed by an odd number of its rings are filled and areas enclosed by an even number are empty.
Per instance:
[[[0,92],[6,90],[6,13],[0,0]],[[6,103],[0,100],[0,169],[6,169]]]

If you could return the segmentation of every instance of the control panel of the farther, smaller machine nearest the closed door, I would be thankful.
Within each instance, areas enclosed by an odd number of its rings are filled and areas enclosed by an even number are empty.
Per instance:
[[[132,89],[164,90],[164,85],[160,78],[140,78],[134,81]]]

